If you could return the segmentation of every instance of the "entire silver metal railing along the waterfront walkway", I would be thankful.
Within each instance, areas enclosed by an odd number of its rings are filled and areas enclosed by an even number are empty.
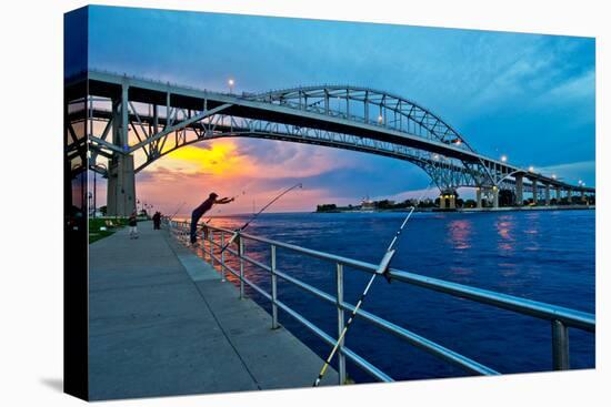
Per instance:
[[[170,228],[178,236],[179,240],[189,238],[189,224],[186,222],[170,221]],[[239,279],[240,298],[244,297],[244,285],[250,286],[263,298],[271,303],[271,327],[273,329],[279,327],[278,324],[278,309],[283,311],[289,316],[294,318],[301,325],[307,327],[310,332],[317,335],[320,339],[330,346],[333,346],[337,338],[331,337],[320,327],[314,325],[303,315],[289,307],[287,304],[278,299],[278,278],[293,284],[294,286],[303,289],[304,292],[313,295],[314,297],[330,303],[337,307],[338,315],[338,337],[343,329],[344,313],[353,312],[354,306],[343,301],[343,268],[344,266],[364,271],[368,273],[375,273],[378,265],[361,262],[353,258],[342,257],[330,253],[314,251],[292,244],[287,244],[266,237],[253,236],[247,233],[240,233],[236,240],[238,244],[238,251],[232,247],[227,247],[220,253],[220,257],[214,253],[214,247],[224,247],[228,240],[236,233],[234,231],[214,227],[210,225],[202,226],[208,233],[199,232],[201,236],[201,248],[206,255],[210,258],[210,264],[214,266],[219,264],[221,278],[226,279],[226,272],[231,273]],[[219,235],[220,238],[216,238]],[[263,264],[246,253],[244,241],[253,241],[266,244],[269,246],[270,264]],[[277,264],[277,248],[281,247],[294,253],[300,253],[310,257],[328,261],[335,264],[335,295],[328,294],[319,288],[315,288],[293,276],[290,276],[280,269]],[[226,262],[226,253],[230,253],[236,256],[239,263],[239,269],[234,269]],[[249,263],[262,271],[266,271],[271,276],[271,293],[266,292],[259,285],[251,282],[244,276],[244,264]],[[528,315],[531,317],[547,319],[551,324],[551,350],[552,350],[552,367],[554,370],[565,370],[570,368],[569,362],[569,327],[582,329],[590,333],[595,333],[595,317],[593,314],[574,311],[561,306],[555,306],[547,303],[530,301],[520,298],[507,294],[495,293],[488,289],[475,288],[462,284],[451,283],[439,278],[432,278],[422,276],[414,273],[409,273],[395,268],[390,268],[388,276],[398,282],[408,283],[419,287],[428,288],[431,291],[449,294],[454,297],[467,298],[480,304],[487,304],[502,309],[508,309],[518,314]],[[379,317],[364,309],[359,309],[357,316],[361,319],[372,324],[373,326],[385,330],[395,337],[407,342],[408,344],[415,346],[417,348],[427,352],[430,355],[437,356],[454,366],[462,368],[463,370],[475,375],[499,375],[500,373],[484,366],[464,355],[453,352],[440,344],[434,343],[425,337],[422,337],[404,327],[393,324],[382,317]],[[345,360],[352,362],[355,366],[363,372],[380,381],[393,381],[393,379],[373,366],[362,356],[357,355],[353,350],[340,345],[338,349],[339,355],[339,384],[345,383]]]

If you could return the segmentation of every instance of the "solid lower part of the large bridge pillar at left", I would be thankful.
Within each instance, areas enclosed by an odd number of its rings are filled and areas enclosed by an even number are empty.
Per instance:
[[[107,213],[129,216],[136,211],[136,177],[132,155],[117,155],[109,161]]]

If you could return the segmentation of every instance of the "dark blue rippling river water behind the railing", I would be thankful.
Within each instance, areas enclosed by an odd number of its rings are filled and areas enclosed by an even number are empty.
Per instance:
[[[248,233],[378,263],[405,214],[263,214]],[[248,215],[216,217],[234,228]],[[392,262],[394,268],[594,313],[594,211],[415,213]],[[269,264],[268,248],[247,243],[247,254]],[[278,269],[335,293],[335,266],[278,250]],[[236,263],[232,263],[236,266]],[[246,275],[270,292],[270,277],[247,265]],[[344,301],[355,304],[369,275],[344,269]],[[234,282],[236,283],[236,282]],[[279,298],[337,336],[333,306],[279,279]],[[266,309],[256,292],[249,296]],[[501,373],[551,369],[551,328],[545,320],[378,278],[363,308]],[[280,312],[280,323],[321,357],[330,350]],[[397,380],[465,374],[357,319],[345,339],[357,354]],[[594,367],[594,336],[570,329],[572,368]],[[371,381],[348,365],[357,381]],[[312,372],[312,380],[318,372]]]

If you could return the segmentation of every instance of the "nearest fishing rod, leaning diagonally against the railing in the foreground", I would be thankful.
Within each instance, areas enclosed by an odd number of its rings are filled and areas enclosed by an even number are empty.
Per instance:
[[[427,191],[430,189],[431,184],[429,184],[429,187],[427,187],[427,190],[424,190],[421,197],[424,196]],[[420,201],[420,199],[418,201]],[[312,385],[313,387],[318,387],[318,385],[320,384],[320,380],[322,380],[322,377],[324,376],[324,374],[327,373],[327,369],[331,365],[331,360],[333,359],[333,356],[335,356],[335,353],[338,352],[338,349],[340,347],[340,344],[342,343],[343,338],[345,337],[345,334],[348,333],[348,329],[350,328],[350,325],[352,325],[352,322],[355,319],[357,313],[361,308],[361,305],[363,304],[364,298],[367,297],[367,294],[369,293],[369,288],[371,288],[371,285],[373,284],[373,281],[375,281],[375,277],[378,277],[379,275],[383,275],[384,277],[387,277],[387,281],[390,282],[390,277],[388,276],[388,271],[389,271],[390,262],[392,261],[392,257],[394,257],[394,253],[397,253],[397,250],[394,248],[394,245],[399,241],[399,236],[401,235],[401,232],[405,227],[405,224],[409,222],[411,215],[413,214],[413,211],[415,211],[414,205],[411,206],[410,212],[408,213],[408,215],[403,220],[403,223],[401,223],[401,227],[399,227],[399,230],[397,231],[397,233],[392,237],[392,241],[390,242],[390,244],[387,248],[387,252],[384,253],[384,256],[382,257],[382,261],[378,265],[378,268],[375,269],[375,272],[373,273],[371,278],[369,278],[369,282],[367,283],[367,286],[364,287],[364,291],[361,294],[361,297],[359,298],[357,305],[354,306],[354,309],[352,309],[352,313],[350,314],[350,318],[348,318],[348,322],[345,323],[345,326],[343,327],[340,336],[338,337],[338,340],[335,342],[335,345],[333,346],[333,348],[331,349],[331,353],[329,354],[329,356],[324,360],[324,365],[322,365],[322,369],[320,369],[320,373],[319,373],[317,379],[314,380],[314,383]]]

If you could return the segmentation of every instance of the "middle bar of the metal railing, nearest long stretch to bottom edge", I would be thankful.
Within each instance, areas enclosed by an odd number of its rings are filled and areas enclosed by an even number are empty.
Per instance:
[[[282,272],[279,272],[279,271],[276,271],[276,274],[286,279],[287,282],[289,283],[292,283],[294,285],[297,285],[298,287],[309,292],[310,294],[330,303],[330,304],[335,304],[337,303],[337,298],[330,294],[327,294],[324,293],[323,291],[320,291],[307,283],[302,283],[300,281],[298,281],[297,278],[293,278]],[[354,311],[354,306],[349,304],[349,303],[345,303],[345,302],[342,302],[340,304],[341,308],[344,309],[344,311],[349,311],[349,312],[352,312]],[[400,327],[399,325],[395,325],[393,323],[391,323],[390,320],[387,320],[384,318],[381,318],[381,317],[378,317],[371,313],[368,313],[367,311],[364,309],[359,309],[357,312],[357,316],[362,318],[362,319],[365,319],[370,323],[372,323],[373,325],[387,330],[388,333],[390,334],[393,334],[394,336],[399,337],[399,338],[402,338],[404,340],[407,340],[408,343],[410,343],[411,345],[433,355],[433,356],[438,356],[449,363],[452,363],[453,365],[457,365],[459,367],[462,367],[464,369],[467,369],[468,372],[471,372],[471,373],[474,373],[474,374],[479,374],[479,375],[499,375],[500,373],[494,370],[494,369],[491,369],[490,367],[488,366],[484,366],[475,360],[472,360],[470,358],[468,358],[467,356],[463,356],[459,353],[455,353],[453,350],[450,350],[448,348],[445,348],[444,346],[441,346],[432,340],[429,340],[429,339],[425,339],[423,338],[422,336],[418,335],[418,334],[414,334],[413,332],[409,330],[409,329],[405,329],[405,328],[402,328]]]

